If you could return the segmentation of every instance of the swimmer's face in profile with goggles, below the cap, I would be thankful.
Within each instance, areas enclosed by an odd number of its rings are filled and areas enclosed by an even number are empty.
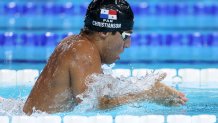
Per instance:
[[[109,34],[105,39],[106,48],[104,50],[104,55],[102,56],[102,62],[112,64],[120,59],[120,54],[125,48],[130,47],[132,31],[116,32],[116,34],[112,34],[111,32],[108,33]]]

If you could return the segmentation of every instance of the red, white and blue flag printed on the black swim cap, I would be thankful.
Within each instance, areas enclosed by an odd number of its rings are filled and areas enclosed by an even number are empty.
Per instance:
[[[100,18],[117,20],[117,11],[116,10],[101,9]]]

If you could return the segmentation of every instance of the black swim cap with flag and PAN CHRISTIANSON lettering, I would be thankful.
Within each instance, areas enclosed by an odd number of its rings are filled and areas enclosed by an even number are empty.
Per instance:
[[[86,12],[85,27],[98,32],[133,29],[134,14],[125,0],[93,0]]]

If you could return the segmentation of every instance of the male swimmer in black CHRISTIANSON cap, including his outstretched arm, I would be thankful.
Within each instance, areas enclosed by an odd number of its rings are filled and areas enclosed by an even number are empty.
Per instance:
[[[134,15],[125,0],[93,0],[87,9],[85,25],[79,35],[69,36],[56,47],[37,79],[23,111],[47,113],[69,111],[81,102],[76,98],[86,90],[85,80],[91,74],[102,74],[101,65],[120,59],[130,47]],[[72,22],[73,23],[73,22]],[[181,92],[160,83],[162,74],[150,90],[111,98],[99,98],[99,108],[148,100],[164,105],[183,105],[187,98]]]

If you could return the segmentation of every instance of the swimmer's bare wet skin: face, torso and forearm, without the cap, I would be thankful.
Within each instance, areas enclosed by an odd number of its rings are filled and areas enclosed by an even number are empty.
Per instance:
[[[119,59],[124,48],[128,47],[130,47],[130,38],[123,41],[118,32],[115,35],[98,33],[94,36],[82,34],[65,38],[49,58],[23,111],[31,115],[33,110],[47,113],[72,110],[81,101],[76,96],[85,91],[86,78],[94,73],[102,73],[101,65],[114,63]],[[149,92],[116,97],[116,99],[105,98],[107,97],[105,95],[99,99],[101,101],[99,108],[111,108],[137,100],[150,100],[164,105],[185,104],[187,101],[185,95],[160,83],[161,80],[160,77]],[[158,94],[160,92],[162,93]],[[171,99],[173,101],[167,103],[165,100],[171,97],[174,97]]]

